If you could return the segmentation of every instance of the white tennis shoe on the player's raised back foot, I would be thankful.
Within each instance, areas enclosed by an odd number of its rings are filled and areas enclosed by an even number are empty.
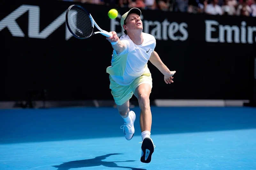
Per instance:
[[[129,117],[130,117],[130,122],[124,123],[124,125],[122,125],[120,127],[120,129],[123,129],[125,138],[127,140],[131,140],[134,135],[134,132],[135,132],[134,122],[136,119],[136,115],[135,115],[134,111],[129,111]]]

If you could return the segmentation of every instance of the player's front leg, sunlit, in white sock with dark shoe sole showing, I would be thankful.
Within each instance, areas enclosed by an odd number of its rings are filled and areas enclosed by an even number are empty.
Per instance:
[[[150,100],[149,96],[151,93],[151,85],[148,83],[140,84],[135,90],[135,96],[138,99],[139,107],[141,109],[140,113],[140,126],[141,126],[141,136],[142,136],[142,145],[141,145],[141,162],[150,163],[151,156],[154,152],[154,143],[150,138],[151,135],[151,124],[152,124],[152,115],[150,109]]]

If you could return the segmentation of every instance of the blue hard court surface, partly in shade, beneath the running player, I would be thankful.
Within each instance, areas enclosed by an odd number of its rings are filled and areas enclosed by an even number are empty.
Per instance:
[[[0,110],[0,170],[253,170],[256,108],[151,107],[155,152],[140,162],[115,108]]]

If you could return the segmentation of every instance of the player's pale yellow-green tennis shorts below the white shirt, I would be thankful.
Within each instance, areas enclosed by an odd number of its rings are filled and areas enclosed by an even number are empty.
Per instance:
[[[140,77],[136,78],[131,84],[127,86],[122,86],[117,84],[112,79],[111,75],[109,75],[109,79],[110,79],[109,87],[111,89],[111,94],[117,105],[122,105],[126,101],[128,101],[134,94],[136,88],[141,84],[148,83],[150,84],[152,89],[152,77],[148,68],[144,71],[144,73]]]

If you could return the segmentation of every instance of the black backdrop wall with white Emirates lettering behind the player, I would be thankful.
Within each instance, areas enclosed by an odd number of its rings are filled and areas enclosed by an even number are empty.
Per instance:
[[[48,100],[112,99],[106,67],[112,47],[102,35],[81,40],[66,29],[62,1],[1,1],[0,100],[26,100],[46,89]],[[79,3],[77,3],[79,4]],[[82,4],[106,31],[122,34],[112,7]],[[118,8],[120,14],[128,9]],[[174,83],[149,62],[151,99],[242,99],[252,91],[256,18],[142,10],[144,32],[157,39],[155,50]]]

